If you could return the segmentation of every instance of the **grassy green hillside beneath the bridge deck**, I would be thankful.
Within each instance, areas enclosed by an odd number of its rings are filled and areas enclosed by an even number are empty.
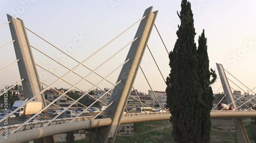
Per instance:
[[[224,120],[226,121],[226,120]],[[230,123],[231,120],[226,121],[227,125],[212,125],[211,126],[211,142],[212,143],[234,143],[238,142],[236,139],[236,128]],[[252,125],[250,119],[243,120],[244,125],[247,130],[248,137],[251,142],[253,137],[256,134],[255,126]],[[214,123],[212,123],[214,124]],[[135,123],[133,134],[126,135],[117,135],[115,142],[116,143],[172,143],[175,142],[172,138],[172,124],[168,121],[154,121],[154,122],[145,122],[145,123]],[[253,135],[254,134],[254,135]],[[94,133],[88,132],[86,134],[86,139],[77,140],[78,142],[93,142],[95,137]],[[91,141],[89,141],[91,140]]]

